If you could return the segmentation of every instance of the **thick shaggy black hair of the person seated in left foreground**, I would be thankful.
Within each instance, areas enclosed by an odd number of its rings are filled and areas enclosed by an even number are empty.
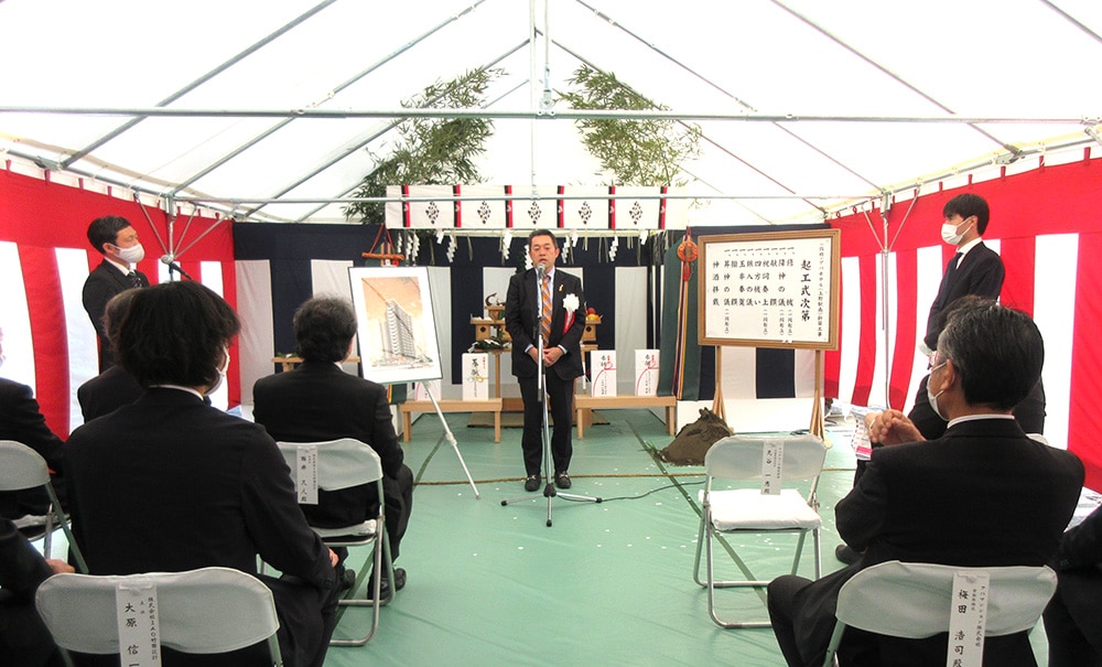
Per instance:
[[[122,367],[142,387],[202,387],[218,379],[223,349],[241,330],[234,309],[198,282],[134,290],[119,324]]]

